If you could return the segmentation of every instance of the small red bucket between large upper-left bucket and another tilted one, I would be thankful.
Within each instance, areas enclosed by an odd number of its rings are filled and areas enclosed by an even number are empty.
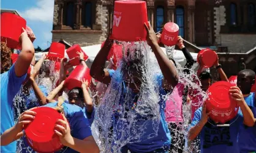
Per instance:
[[[65,45],[62,43],[53,42],[51,43],[47,59],[49,60],[61,60],[65,55]]]

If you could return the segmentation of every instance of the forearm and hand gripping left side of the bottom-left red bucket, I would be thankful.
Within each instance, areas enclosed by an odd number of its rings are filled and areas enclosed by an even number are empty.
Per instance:
[[[10,143],[12,143],[15,140],[18,140],[23,136],[23,126],[25,124],[31,123],[31,120],[34,119],[34,116],[36,115],[35,112],[32,110],[26,110],[20,115],[20,118],[18,119],[17,124],[15,126],[11,127],[10,129],[6,130],[1,135],[1,146],[6,146]]]

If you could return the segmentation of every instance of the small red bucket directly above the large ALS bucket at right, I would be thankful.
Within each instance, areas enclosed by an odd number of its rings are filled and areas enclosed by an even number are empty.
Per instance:
[[[197,61],[201,58],[201,62],[203,63],[205,68],[211,68],[217,60],[216,52],[211,49],[203,49],[197,54]]]

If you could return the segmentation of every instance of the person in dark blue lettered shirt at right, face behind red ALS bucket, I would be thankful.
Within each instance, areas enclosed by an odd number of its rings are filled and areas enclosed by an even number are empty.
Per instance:
[[[232,99],[239,105],[241,115],[237,115],[225,124],[230,126],[217,126],[211,119],[208,118],[210,112],[206,110],[206,102],[203,107],[195,111],[194,118],[191,123],[191,128],[188,133],[189,140],[194,140],[198,135],[200,136],[201,153],[239,153],[237,137],[239,125],[252,127],[254,126],[254,118],[252,111],[244,101],[243,94],[238,87],[231,87],[230,94]]]

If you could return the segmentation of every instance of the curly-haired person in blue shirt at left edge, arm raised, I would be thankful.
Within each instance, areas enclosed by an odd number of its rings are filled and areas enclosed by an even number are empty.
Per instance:
[[[1,123],[4,123],[1,124],[1,135],[14,126],[13,98],[26,79],[28,68],[34,57],[34,46],[24,29],[20,35],[20,43],[21,52],[17,62],[11,66],[10,49],[1,42]],[[7,146],[1,146],[1,152],[16,152],[16,144],[17,142],[14,141]]]

